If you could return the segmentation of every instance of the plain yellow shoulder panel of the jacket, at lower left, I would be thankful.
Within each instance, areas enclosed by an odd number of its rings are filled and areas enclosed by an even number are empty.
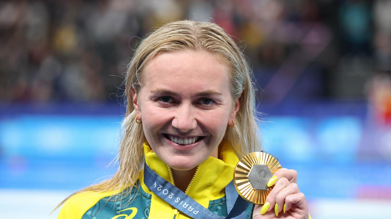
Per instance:
[[[81,219],[100,199],[110,196],[113,192],[82,192],[71,196],[61,207],[57,219]]]

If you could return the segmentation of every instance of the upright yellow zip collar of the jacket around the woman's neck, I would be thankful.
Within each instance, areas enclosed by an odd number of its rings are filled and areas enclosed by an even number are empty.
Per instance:
[[[148,142],[143,144],[145,162],[165,180],[170,182],[169,170],[167,164],[163,162],[149,147]],[[210,200],[222,198],[225,195],[224,188],[233,179],[233,170],[239,161],[237,155],[230,147],[227,141],[222,140],[219,147],[220,158],[208,157],[201,163],[197,176],[195,176],[193,185],[188,191],[188,195],[198,203],[208,208]],[[143,183],[143,171],[140,181],[142,189],[152,194],[152,191]],[[154,194],[152,194],[153,196]]]

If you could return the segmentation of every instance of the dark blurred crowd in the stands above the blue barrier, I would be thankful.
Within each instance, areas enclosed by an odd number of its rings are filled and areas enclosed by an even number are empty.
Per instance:
[[[391,0],[13,0],[0,2],[0,102],[118,101],[137,44],[178,19],[231,34],[262,101],[362,100],[374,72],[390,77]]]

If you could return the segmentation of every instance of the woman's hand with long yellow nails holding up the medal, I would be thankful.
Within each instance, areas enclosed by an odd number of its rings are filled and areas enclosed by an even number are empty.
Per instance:
[[[275,184],[274,188],[264,205],[255,205],[253,219],[308,219],[307,201],[296,182],[296,170],[282,168],[276,171],[267,184]]]

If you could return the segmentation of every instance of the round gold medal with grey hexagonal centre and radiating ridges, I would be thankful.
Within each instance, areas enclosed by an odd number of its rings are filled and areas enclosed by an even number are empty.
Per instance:
[[[267,182],[281,169],[281,164],[265,152],[250,153],[238,162],[233,173],[233,182],[239,195],[254,204],[264,204],[271,187]]]

